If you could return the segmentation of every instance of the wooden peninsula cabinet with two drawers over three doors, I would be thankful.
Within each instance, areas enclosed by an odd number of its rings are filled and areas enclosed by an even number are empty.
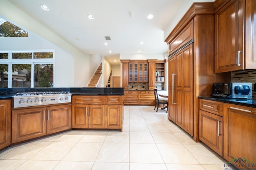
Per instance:
[[[121,129],[122,96],[72,96],[72,128]]]

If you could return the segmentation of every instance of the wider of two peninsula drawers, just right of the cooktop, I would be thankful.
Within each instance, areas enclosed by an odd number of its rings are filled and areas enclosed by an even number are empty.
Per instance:
[[[105,104],[105,96],[72,96],[72,104]]]

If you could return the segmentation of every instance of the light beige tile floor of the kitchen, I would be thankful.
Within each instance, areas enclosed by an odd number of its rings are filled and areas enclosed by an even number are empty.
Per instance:
[[[153,106],[124,106],[123,132],[73,130],[0,152],[0,170],[224,170],[225,162]]]

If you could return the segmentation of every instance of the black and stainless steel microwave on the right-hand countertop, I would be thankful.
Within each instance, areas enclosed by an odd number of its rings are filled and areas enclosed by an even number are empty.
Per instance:
[[[212,95],[222,98],[252,98],[252,83],[214,83],[212,84]]]

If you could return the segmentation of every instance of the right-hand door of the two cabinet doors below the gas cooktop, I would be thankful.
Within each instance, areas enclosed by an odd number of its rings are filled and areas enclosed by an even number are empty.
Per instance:
[[[71,105],[47,107],[46,134],[71,129]]]

